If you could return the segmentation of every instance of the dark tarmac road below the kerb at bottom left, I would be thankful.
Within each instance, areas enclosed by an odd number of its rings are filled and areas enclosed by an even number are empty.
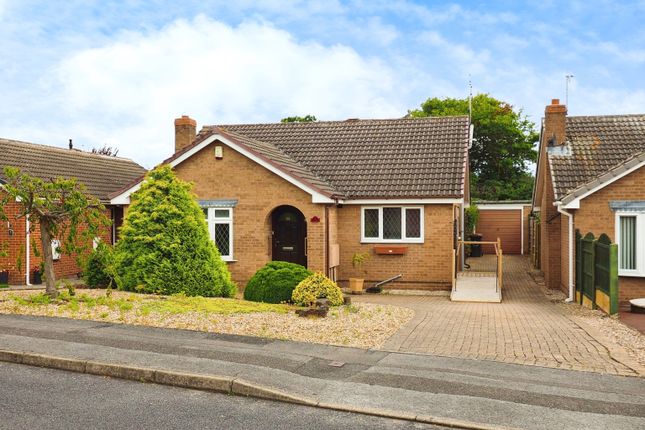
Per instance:
[[[446,428],[13,363],[0,363],[0,386],[0,429]]]

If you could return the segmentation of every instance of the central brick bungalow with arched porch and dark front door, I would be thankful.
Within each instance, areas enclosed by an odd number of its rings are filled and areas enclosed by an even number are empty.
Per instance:
[[[175,120],[164,161],[194,183],[211,237],[245,285],[271,260],[341,285],[395,275],[445,289],[468,204],[466,116],[206,126]],[[127,206],[140,183],[111,196]],[[369,258],[352,265],[357,253]]]

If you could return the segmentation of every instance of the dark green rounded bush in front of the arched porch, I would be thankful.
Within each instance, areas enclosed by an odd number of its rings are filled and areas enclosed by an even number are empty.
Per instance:
[[[244,289],[244,299],[265,303],[288,302],[296,285],[308,276],[311,272],[299,264],[272,261],[249,280]]]

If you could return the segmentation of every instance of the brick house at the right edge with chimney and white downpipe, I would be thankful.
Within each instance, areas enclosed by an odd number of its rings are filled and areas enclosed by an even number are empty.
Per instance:
[[[534,262],[575,289],[575,231],[618,244],[619,300],[645,297],[645,115],[567,116],[546,107],[533,192]]]

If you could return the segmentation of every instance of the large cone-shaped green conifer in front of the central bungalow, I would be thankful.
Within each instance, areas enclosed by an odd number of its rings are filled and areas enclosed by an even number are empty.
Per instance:
[[[235,295],[231,274],[209,237],[190,184],[162,165],[148,172],[131,198],[114,256],[119,288],[154,294]]]

